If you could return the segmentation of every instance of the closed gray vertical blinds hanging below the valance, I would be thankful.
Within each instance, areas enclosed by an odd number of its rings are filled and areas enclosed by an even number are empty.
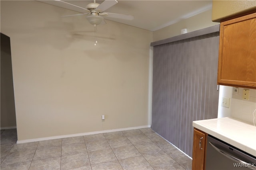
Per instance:
[[[218,47],[219,32],[154,46],[152,129],[191,157],[192,121],[218,114]]]

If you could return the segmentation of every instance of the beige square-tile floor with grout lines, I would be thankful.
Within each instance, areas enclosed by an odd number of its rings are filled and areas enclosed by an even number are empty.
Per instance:
[[[192,160],[151,128],[16,144],[1,130],[1,170],[190,170]]]

